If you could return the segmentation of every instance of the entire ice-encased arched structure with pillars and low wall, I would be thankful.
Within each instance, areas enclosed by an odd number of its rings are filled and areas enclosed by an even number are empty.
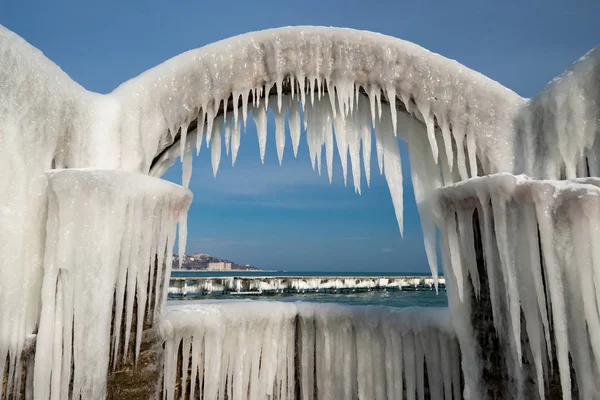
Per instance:
[[[107,95],[2,27],[0,60],[3,397],[598,397],[600,49],[533,99],[415,44],[338,28],[237,36]],[[449,317],[255,303],[234,324],[225,305],[165,310],[194,148],[206,142],[216,174],[251,115],[264,157],[269,110],[280,160],[287,118],[294,150],[305,131],[331,179],[337,148],[359,193],[375,147],[400,232],[407,143],[434,279],[440,231]],[[159,179],[177,158],[183,187]],[[329,360],[314,374],[311,351]]]

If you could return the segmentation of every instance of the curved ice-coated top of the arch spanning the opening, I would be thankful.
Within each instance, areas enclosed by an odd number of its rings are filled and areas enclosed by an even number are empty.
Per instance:
[[[271,29],[191,50],[117,88],[111,96],[123,106],[124,145],[137,149],[127,155],[124,167],[148,171],[171,142],[169,135],[198,116],[211,126],[230,97],[245,111],[259,90],[275,88],[280,106],[285,80],[302,103],[325,86],[335,91],[332,99],[342,112],[352,109],[361,88],[373,107],[382,91],[392,108],[397,100],[407,108],[414,102],[409,111],[427,125],[434,158],[444,146],[435,138],[437,121],[448,132],[452,127],[460,144],[465,137],[483,139],[477,144],[493,165],[509,161],[495,159],[484,142],[494,141],[498,150],[494,136],[510,128],[523,102],[485,76],[400,39],[341,28]]]

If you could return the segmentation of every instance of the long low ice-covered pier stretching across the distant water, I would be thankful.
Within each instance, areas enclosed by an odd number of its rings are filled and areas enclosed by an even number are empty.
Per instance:
[[[444,278],[438,287],[446,289]],[[283,293],[355,293],[371,290],[435,290],[432,277],[425,276],[244,276],[171,277],[169,296],[274,295]]]

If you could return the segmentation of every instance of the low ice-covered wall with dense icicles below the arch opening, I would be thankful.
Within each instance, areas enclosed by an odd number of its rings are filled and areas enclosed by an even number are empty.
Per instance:
[[[461,398],[444,309],[188,301],[162,326],[165,399]]]

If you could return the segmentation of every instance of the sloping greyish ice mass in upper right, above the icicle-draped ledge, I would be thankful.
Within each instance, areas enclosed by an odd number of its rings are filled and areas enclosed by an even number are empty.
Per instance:
[[[599,80],[597,47],[519,111],[513,173],[544,179],[600,176]]]

